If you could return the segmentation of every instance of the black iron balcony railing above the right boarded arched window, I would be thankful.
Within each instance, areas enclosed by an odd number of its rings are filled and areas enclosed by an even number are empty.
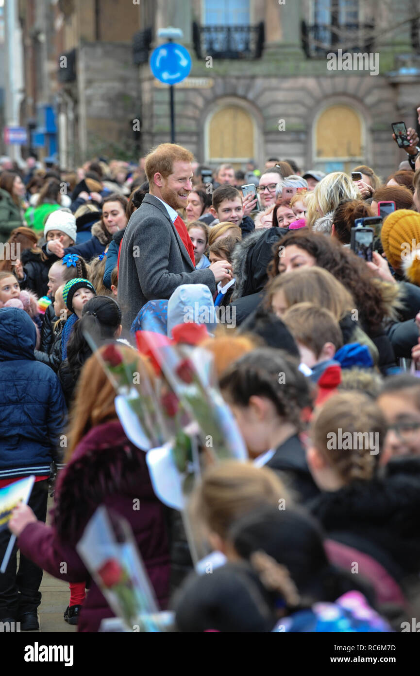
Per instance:
[[[374,24],[313,24],[302,22],[302,45],[308,59],[325,57],[338,49],[372,51]]]

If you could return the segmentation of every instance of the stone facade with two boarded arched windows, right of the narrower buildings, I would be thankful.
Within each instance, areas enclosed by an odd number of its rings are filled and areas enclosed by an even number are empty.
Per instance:
[[[398,3],[398,22],[392,3],[378,16],[369,0],[145,0],[140,14],[153,36],[168,25],[184,32],[192,70],[175,87],[176,141],[199,161],[240,166],[253,157],[263,166],[273,155],[323,171],[369,164],[385,176],[404,160],[390,124],[415,126],[420,105],[419,12],[410,0]],[[367,57],[329,70],[327,54],[338,49]],[[147,62],[140,82],[146,151],[169,138],[169,93]]]

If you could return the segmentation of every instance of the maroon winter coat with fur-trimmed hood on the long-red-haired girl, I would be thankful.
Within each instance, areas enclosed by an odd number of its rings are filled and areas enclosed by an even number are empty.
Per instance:
[[[133,509],[136,498],[140,509]],[[78,443],[57,479],[52,525],[28,524],[18,539],[20,551],[58,579],[88,579],[76,544],[101,504],[130,523],[157,600],[165,608],[170,572],[165,507],[153,492],[145,452],[128,441],[118,420],[94,427]],[[61,573],[63,562],[66,573]],[[98,631],[104,617],[113,617],[113,612],[91,580],[78,631]]]

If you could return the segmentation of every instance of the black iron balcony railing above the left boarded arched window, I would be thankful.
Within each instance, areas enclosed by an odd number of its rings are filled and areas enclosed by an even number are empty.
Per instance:
[[[264,24],[257,26],[199,26],[192,24],[198,59],[259,59],[264,47]]]

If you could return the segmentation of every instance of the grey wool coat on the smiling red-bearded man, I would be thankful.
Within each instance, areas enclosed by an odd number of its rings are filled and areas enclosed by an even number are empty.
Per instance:
[[[124,330],[130,331],[147,301],[167,299],[181,284],[205,284],[215,293],[213,272],[194,268],[167,210],[157,197],[146,195],[122,239],[118,302]]]

